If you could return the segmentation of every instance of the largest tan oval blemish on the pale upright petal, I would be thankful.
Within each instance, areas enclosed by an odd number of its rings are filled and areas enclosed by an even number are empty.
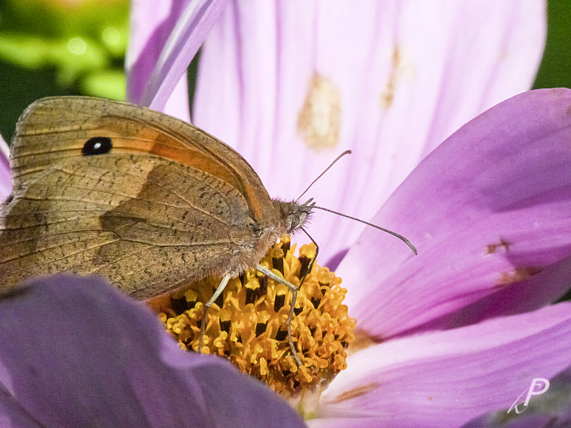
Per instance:
[[[316,152],[334,148],[341,129],[341,93],[329,77],[315,73],[302,109],[297,114],[297,132]]]

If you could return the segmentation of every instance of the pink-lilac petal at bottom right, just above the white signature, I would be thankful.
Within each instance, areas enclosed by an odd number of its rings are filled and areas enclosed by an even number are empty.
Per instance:
[[[309,425],[458,427],[509,409],[534,378],[565,370],[570,352],[571,303],[391,340],[347,359]]]

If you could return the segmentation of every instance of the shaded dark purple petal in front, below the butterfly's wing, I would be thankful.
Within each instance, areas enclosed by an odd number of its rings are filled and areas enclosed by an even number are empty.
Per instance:
[[[3,296],[0,343],[0,386],[42,426],[304,426],[226,361],[181,351],[100,278],[52,276]]]

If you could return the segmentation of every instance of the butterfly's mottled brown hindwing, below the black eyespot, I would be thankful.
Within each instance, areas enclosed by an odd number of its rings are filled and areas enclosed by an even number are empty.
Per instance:
[[[72,271],[146,298],[227,271],[247,232],[240,192],[168,159],[63,158],[35,177],[3,209],[2,287]]]

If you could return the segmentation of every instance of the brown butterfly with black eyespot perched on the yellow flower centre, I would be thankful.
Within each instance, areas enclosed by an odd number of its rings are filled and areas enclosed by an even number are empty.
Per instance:
[[[61,271],[105,276],[136,299],[227,282],[313,208],[270,198],[247,161],[201,129],[124,102],[38,100],[10,150],[0,290]]]

